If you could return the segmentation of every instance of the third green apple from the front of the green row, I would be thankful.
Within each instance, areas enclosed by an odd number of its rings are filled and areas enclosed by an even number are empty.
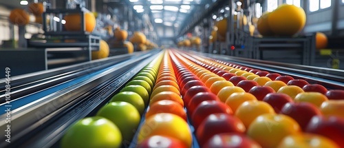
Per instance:
[[[144,112],[144,101],[142,97],[136,93],[136,92],[120,92],[113,96],[110,100],[110,102],[116,102],[116,101],[123,101],[130,103],[133,105],[136,109],[138,109],[138,112],[140,114],[143,114]]]

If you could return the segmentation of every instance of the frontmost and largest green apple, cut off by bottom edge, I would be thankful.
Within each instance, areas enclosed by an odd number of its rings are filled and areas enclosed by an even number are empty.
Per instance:
[[[78,120],[69,127],[61,140],[61,147],[120,147],[121,142],[120,129],[114,123],[94,116]]]

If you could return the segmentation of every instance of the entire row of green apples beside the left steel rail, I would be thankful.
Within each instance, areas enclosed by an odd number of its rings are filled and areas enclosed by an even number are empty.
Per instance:
[[[144,67],[96,116],[74,123],[61,147],[129,147],[148,106],[162,56]]]

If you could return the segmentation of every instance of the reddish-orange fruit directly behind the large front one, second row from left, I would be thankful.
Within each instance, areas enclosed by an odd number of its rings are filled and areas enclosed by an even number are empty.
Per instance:
[[[149,109],[147,110],[146,118],[149,118],[153,114],[159,113],[175,114],[186,120],[186,112],[184,111],[183,106],[175,101],[162,100],[151,103],[151,105],[149,105]]]

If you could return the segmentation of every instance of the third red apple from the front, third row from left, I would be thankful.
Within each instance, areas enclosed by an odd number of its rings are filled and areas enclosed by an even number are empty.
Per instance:
[[[193,127],[197,130],[207,116],[215,113],[233,114],[232,109],[221,101],[203,101],[191,116]]]

